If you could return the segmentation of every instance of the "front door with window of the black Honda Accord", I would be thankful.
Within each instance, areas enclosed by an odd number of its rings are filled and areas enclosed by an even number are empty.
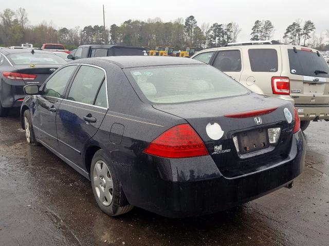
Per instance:
[[[54,73],[41,88],[41,95],[36,95],[36,103],[32,111],[34,134],[44,144],[56,148],[58,145],[56,131],[56,115],[70,77],[76,65],[67,66]]]

